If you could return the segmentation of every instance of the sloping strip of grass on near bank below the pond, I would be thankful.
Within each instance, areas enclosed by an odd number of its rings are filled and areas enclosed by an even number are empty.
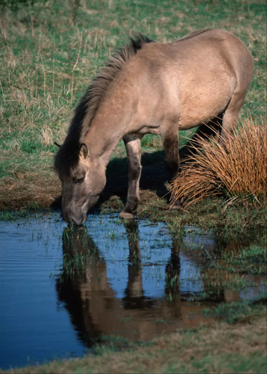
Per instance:
[[[255,309],[249,324],[203,326],[131,350],[104,348],[97,356],[5,373],[266,373],[265,313]]]

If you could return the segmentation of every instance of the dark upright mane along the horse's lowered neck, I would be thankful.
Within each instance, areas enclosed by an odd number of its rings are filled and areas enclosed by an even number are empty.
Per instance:
[[[153,40],[142,34],[138,34],[134,39],[130,38],[129,45],[117,50],[92,80],[74,111],[68,134],[56,154],[54,162],[56,172],[66,175],[71,168],[77,165],[81,140],[89,131],[90,124],[105,96],[105,92],[131,56],[142,49],[144,44],[150,42],[153,42]]]

